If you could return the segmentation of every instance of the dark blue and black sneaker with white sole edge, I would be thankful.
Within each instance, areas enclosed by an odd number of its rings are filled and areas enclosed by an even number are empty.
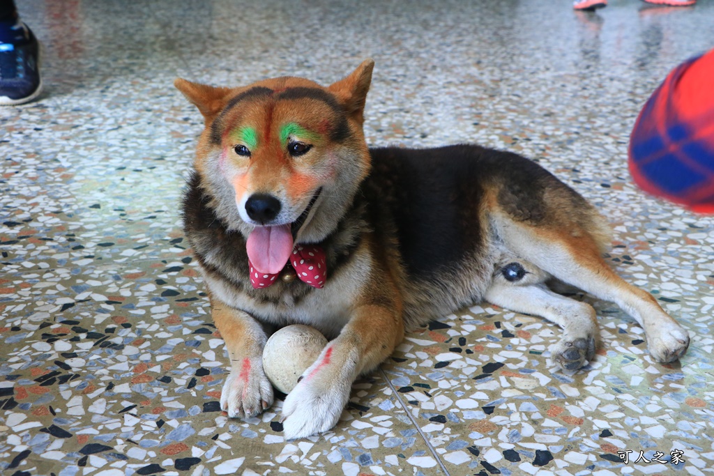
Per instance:
[[[24,24],[11,29],[18,39],[0,41],[0,106],[32,101],[42,91],[37,39]]]

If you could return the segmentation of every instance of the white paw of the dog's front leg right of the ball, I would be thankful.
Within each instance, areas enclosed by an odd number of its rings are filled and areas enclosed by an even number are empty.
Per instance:
[[[288,440],[329,430],[337,424],[350,397],[351,382],[323,388],[317,379],[303,379],[283,403],[283,432]]]

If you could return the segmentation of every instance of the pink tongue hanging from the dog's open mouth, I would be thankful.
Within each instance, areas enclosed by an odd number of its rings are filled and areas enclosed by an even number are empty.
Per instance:
[[[260,273],[280,273],[293,251],[290,225],[256,226],[248,236],[246,251]]]

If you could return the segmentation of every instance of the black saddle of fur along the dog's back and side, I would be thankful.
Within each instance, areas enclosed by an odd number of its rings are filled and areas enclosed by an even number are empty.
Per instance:
[[[372,172],[362,187],[368,221],[377,233],[396,235],[408,275],[416,280],[454,270],[478,252],[486,239],[480,213],[489,183],[500,186],[498,201],[514,218],[540,221],[543,191],[558,182],[533,161],[479,146],[370,152]]]

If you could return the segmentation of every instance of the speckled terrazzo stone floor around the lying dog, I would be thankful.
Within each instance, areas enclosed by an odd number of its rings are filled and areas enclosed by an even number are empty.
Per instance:
[[[46,92],[0,110],[1,474],[714,472],[714,218],[640,193],[625,162],[650,92],[714,46],[713,1],[19,6]],[[280,400],[228,419],[177,213],[202,121],[171,83],[330,83],[368,56],[371,144],[477,142],[557,173],[612,222],[610,263],[691,333],[681,363],[654,363],[633,320],[585,295],[603,345],[554,373],[555,325],[477,304],[408,335],[331,432],[284,440]]]

